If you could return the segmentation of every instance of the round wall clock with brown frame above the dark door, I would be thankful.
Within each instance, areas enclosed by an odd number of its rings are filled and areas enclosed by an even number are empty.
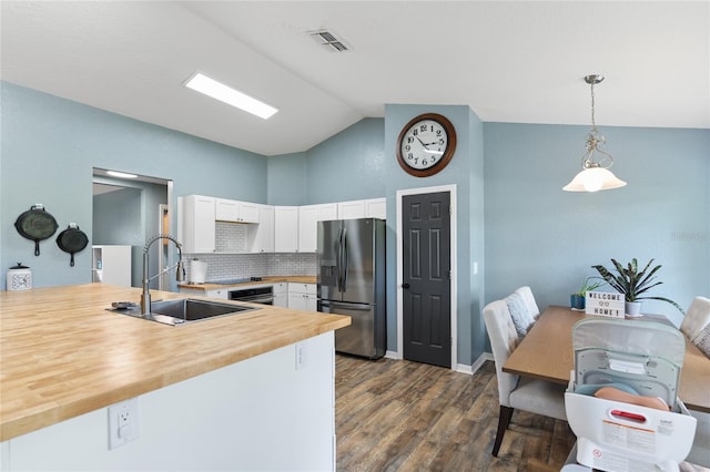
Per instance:
[[[415,116],[397,137],[397,162],[415,177],[440,172],[456,150],[456,131],[450,121],[437,113]]]

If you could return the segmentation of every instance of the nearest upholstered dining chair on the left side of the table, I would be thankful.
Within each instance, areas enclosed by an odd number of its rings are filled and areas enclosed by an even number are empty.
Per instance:
[[[500,413],[493,455],[498,456],[503,437],[515,409],[545,417],[567,420],[565,413],[566,386],[514,376],[503,371],[503,365],[518,345],[518,334],[504,300],[491,301],[484,308],[484,322],[490,339],[498,380]]]

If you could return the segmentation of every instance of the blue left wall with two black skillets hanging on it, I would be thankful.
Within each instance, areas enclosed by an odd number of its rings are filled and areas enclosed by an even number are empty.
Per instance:
[[[50,238],[36,257],[33,243],[13,223],[42,203],[60,227],[77,223],[91,244],[93,167],[172,179],[173,207],[178,196],[190,194],[266,203],[267,163],[261,155],[8,82],[0,86],[3,273],[20,260],[32,269],[37,287],[91,281],[90,250],[77,254],[70,268],[67,253]],[[175,233],[174,219],[172,225]]]

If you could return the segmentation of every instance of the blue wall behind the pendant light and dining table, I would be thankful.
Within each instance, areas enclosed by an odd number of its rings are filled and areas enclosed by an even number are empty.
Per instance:
[[[486,299],[530,285],[566,305],[591,265],[655,258],[651,295],[688,307],[710,296],[710,130],[602,127],[626,187],[568,193],[586,126],[486,123]],[[608,288],[607,288],[608,289]],[[645,310],[681,315],[647,301]]]

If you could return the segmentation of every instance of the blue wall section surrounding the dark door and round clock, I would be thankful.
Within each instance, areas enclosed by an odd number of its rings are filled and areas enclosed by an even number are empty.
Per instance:
[[[396,160],[396,142],[402,129],[422,113],[440,113],[456,129],[457,144],[452,162],[438,174],[420,178],[405,173]],[[483,264],[483,123],[468,106],[386,105],[385,106],[385,168],[387,215],[396,215],[397,191],[456,185],[457,250],[457,361],[470,365],[485,348],[485,332],[480,324],[480,302],[484,298],[480,274],[474,276],[474,261]],[[387,293],[396,294],[396,218],[387,219]],[[387,305],[387,348],[396,349],[396,300]]]

